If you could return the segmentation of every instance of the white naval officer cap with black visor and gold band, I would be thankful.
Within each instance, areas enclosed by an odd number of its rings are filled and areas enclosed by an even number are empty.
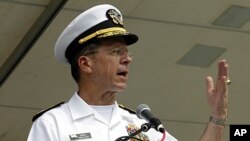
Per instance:
[[[94,6],[78,15],[61,33],[55,44],[55,57],[61,63],[69,63],[77,51],[97,39],[123,37],[127,45],[138,36],[124,28],[121,12],[114,6]]]

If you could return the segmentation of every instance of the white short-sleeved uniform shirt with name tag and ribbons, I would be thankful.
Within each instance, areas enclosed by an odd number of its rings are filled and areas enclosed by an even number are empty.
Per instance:
[[[75,93],[68,103],[36,119],[28,141],[115,141],[121,136],[128,136],[128,132],[138,130],[143,123],[144,120],[119,108],[117,103],[108,123]],[[160,141],[162,134],[150,129],[140,134],[140,137]],[[165,141],[177,140],[166,132]]]

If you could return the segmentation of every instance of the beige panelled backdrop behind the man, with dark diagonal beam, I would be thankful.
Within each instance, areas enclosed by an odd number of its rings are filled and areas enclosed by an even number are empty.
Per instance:
[[[249,0],[0,0],[0,141],[25,141],[34,114],[67,101],[76,84],[56,62],[55,42],[84,10],[109,3],[139,35],[118,103],[145,103],[180,141],[198,140],[210,109],[205,77],[230,67],[230,124],[250,123]]]

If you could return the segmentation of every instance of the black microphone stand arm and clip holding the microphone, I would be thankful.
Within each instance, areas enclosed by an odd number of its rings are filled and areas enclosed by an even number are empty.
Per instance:
[[[149,129],[151,128],[151,124],[150,123],[144,123],[141,125],[141,128],[139,130],[137,130],[136,132],[134,132],[133,134],[129,135],[129,136],[122,136],[117,138],[115,141],[127,141],[129,139],[137,139],[139,141],[142,141],[141,139],[136,138],[135,136],[140,134],[141,132],[147,132]]]

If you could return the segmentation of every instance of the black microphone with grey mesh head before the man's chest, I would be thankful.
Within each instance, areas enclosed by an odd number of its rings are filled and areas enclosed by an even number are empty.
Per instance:
[[[145,119],[148,121],[152,127],[161,133],[165,132],[165,129],[158,118],[155,118],[150,111],[150,108],[146,104],[141,104],[136,109],[136,115],[140,119]]]

